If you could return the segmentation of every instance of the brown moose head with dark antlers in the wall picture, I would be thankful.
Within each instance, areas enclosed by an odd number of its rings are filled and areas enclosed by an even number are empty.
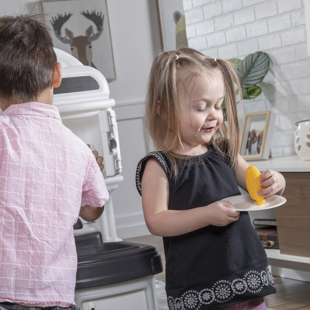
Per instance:
[[[52,17],[51,24],[53,26],[56,37],[61,42],[70,44],[71,54],[75,58],[77,58],[85,66],[96,68],[92,62],[93,54],[91,50],[91,42],[97,40],[103,31],[104,15],[102,15],[102,12],[96,13],[96,10],[91,11],[91,13],[89,13],[88,10],[86,12],[83,11],[81,14],[94,22],[97,27],[97,33],[94,33],[93,26],[89,26],[85,31],[85,36],[74,37],[73,32],[65,28],[65,36],[63,37],[61,35],[61,28],[64,23],[73,15],[70,12],[68,14],[65,12],[64,15],[57,14],[57,17]]]

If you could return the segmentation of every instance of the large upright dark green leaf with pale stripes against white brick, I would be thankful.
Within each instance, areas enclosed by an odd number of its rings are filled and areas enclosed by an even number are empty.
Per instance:
[[[243,87],[249,88],[261,82],[268,72],[270,59],[267,53],[255,52],[247,55],[239,65]]]

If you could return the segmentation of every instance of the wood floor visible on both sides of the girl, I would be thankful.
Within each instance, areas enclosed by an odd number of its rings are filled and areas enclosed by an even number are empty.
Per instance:
[[[165,268],[162,237],[148,235],[125,240],[155,246],[158,253],[162,256],[162,263]],[[162,273],[155,275],[155,279],[165,281],[165,269]],[[274,281],[277,294],[265,297],[265,303],[268,308],[275,310],[310,310],[310,283],[280,277],[274,277]]]

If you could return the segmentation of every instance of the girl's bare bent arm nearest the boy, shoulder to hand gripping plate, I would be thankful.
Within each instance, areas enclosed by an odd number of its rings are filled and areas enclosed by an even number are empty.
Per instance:
[[[157,236],[177,236],[211,224],[225,226],[237,221],[240,214],[229,201],[216,201],[189,210],[168,210],[168,179],[154,157],[145,165],[141,192],[146,225]]]

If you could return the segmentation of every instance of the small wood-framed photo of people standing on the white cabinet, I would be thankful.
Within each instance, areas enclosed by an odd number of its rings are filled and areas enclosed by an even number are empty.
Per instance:
[[[271,157],[274,122],[275,114],[271,111],[244,115],[239,152],[245,160],[266,160]]]

